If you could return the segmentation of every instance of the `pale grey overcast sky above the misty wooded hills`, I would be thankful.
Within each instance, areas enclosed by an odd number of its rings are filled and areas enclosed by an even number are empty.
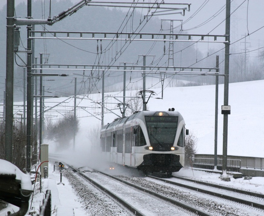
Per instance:
[[[44,1],[44,0],[43,0]],[[49,0],[45,0],[47,3]],[[141,2],[140,0],[139,2]],[[18,5],[20,2],[27,2],[26,0],[15,0],[15,4]],[[72,2],[76,3],[79,0],[72,0]],[[114,1],[112,1],[114,2]],[[127,2],[132,2],[127,1]],[[154,0],[152,0],[154,2]],[[160,0],[159,0],[160,2]],[[167,16],[160,16],[161,19],[182,19],[184,22],[183,30],[184,33],[189,34],[225,34],[225,3],[226,0],[165,0],[165,2],[177,2],[177,3],[190,3],[191,11],[186,11],[185,16],[174,14]],[[0,1],[0,8],[6,4],[6,1]],[[222,9],[221,9],[222,8]],[[244,34],[250,34],[249,37],[246,37],[246,49],[247,51],[252,51],[258,49],[259,47],[264,46],[264,28],[258,30],[259,28],[264,26],[263,22],[263,8],[264,1],[263,0],[231,0],[231,43],[243,38]],[[67,9],[63,8],[62,10]],[[85,7],[82,8],[85,10]],[[124,9],[125,10],[125,9]],[[222,12],[220,12],[222,11]],[[26,11],[25,11],[26,15]],[[54,15],[52,15],[54,16]],[[211,19],[213,16],[215,18]],[[207,22],[208,19],[211,19]],[[200,24],[207,22],[204,25]],[[222,22],[222,24],[221,24]],[[177,25],[176,22],[174,26]],[[215,29],[214,29],[215,28]],[[213,30],[214,29],[214,30]],[[256,31],[258,30],[258,31]],[[255,32],[256,31],[256,32]],[[253,33],[255,32],[255,33]],[[178,33],[178,32],[174,32]],[[245,49],[245,39],[242,39],[235,44],[232,45],[232,48],[236,49],[236,52],[243,52]],[[200,43],[201,44],[201,43]],[[204,44],[200,45],[198,43],[198,48],[205,49]],[[214,43],[206,45],[207,49],[219,47],[220,44]],[[221,44],[223,46],[223,44]],[[263,49],[259,49],[256,51],[250,52],[250,57],[257,56],[260,51]]]

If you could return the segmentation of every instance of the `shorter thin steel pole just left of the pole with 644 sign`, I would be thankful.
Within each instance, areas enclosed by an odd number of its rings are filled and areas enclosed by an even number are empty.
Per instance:
[[[219,68],[219,55],[216,56],[216,68]],[[219,69],[217,69],[217,72]],[[217,131],[218,131],[218,76],[215,76],[215,120],[214,120],[214,169],[217,170]]]

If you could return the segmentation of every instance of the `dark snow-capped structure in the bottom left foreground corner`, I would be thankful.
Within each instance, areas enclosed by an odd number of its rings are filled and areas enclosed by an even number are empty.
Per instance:
[[[0,159],[0,200],[20,209],[16,215],[25,215],[32,190],[30,175],[21,172],[14,164]]]

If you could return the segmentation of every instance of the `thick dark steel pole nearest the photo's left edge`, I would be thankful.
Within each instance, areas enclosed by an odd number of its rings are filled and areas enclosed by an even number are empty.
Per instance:
[[[8,0],[6,16],[5,160],[9,162],[12,162],[13,144],[14,9],[15,0]]]

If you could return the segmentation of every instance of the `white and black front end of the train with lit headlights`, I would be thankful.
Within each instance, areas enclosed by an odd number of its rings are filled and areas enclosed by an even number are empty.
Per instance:
[[[184,119],[178,112],[145,112],[146,146],[138,169],[149,172],[178,172],[184,166]],[[140,155],[140,154],[138,154]]]

